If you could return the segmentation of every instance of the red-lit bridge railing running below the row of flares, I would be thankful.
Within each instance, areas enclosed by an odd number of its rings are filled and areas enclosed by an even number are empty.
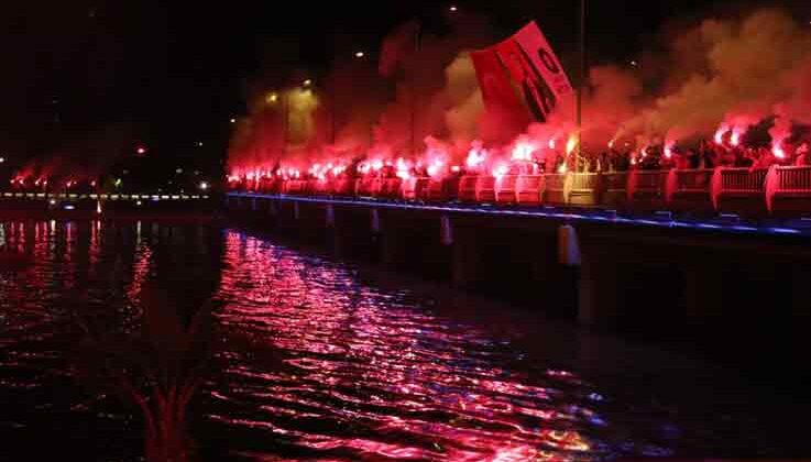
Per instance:
[[[242,185],[244,188],[245,186]],[[764,168],[727,168],[692,170],[631,170],[617,173],[568,173],[546,175],[507,175],[496,179],[490,175],[465,175],[461,178],[431,179],[350,178],[330,182],[291,178],[265,182],[259,193],[285,195],[335,195],[341,197],[379,197],[384,199],[462,202],[519,204],[524,206],[596,205],[614,206],[615,201],[631,199],[627,206],[645,207],[634,200],[655,199],[660,206],[690,209],[691,201],[699,208],[726,206],[738,210],[733,201],[743,199],[741,210],[752,213],[774,212],[790,208],[811,212],[811,166],[774,166]],[[683,200],[683,199],[690,200]],[[678,202],[676,201],[678,199]],[[746,202],[760,205],[761,211],[749,210]],[[700,204],[703,202],[703,204]],[[738,204],[738,202],[734,202]],[[724,207],[722,207],[724,205]]]

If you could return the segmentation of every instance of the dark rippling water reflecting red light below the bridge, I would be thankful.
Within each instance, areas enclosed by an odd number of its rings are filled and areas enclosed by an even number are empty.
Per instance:
[[[76,377],[72,314],[132,334],[155,284],[180,311],[213,300],[206,460],[808,454],[805,404],[717,369],[237,230],[6,222],[0,246],[33,262],[0,267],[0,460],[139,459],[139,414]]]

